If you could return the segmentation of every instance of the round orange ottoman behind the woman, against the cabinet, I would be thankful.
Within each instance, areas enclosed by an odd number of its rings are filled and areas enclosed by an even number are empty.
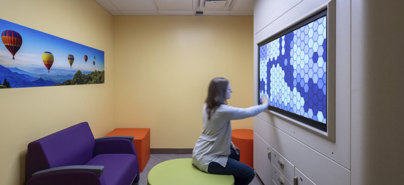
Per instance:
[[[231,141],[240,149],[240,162],[253,167],[253,131],[249,129],[231,130]]]

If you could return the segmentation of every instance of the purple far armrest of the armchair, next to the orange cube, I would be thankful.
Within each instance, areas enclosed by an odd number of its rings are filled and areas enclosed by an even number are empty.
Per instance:
[[[123,138],[122,138],[123,137]],[[128,138],[130,137],[130,138]],[[137,156],[133,136],[111,136],[95,140],[93,157],[107,153],[129,153]]]

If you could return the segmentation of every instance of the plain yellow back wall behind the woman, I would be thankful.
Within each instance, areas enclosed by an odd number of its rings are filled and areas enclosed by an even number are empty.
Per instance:
[[[252,16],[115,16],[115,126],[150,128],[151,148],[193,148],[214,77],[229,79],[229,105],[252,106],[252,24]],[[232,127],[252,129],[252,119]]]

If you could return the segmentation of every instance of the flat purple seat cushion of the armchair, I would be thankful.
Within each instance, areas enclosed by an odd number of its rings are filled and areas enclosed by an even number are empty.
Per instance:
[[[102,177],[107,185],[130,185],[139,164],[136,155],[115,153],[96,155],[84,165],[104,166]]]

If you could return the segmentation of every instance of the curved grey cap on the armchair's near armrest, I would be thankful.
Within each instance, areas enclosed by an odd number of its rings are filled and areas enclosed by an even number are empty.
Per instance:
[[[32,174],[32,177],[50,174],[55,172],[68,172],[68,171],[90,171],[97,174],[100,177],[104,172],[104,166],[90,166],[90,165],[75,165],[75,166],[61,166],[56,168],[49,168],[46,170],[40,170]]]

